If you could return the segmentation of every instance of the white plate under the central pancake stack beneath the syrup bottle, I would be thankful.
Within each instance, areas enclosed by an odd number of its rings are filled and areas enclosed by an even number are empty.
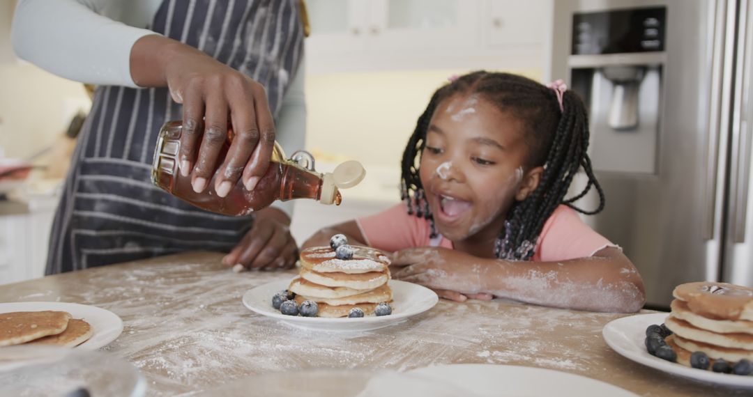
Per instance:
[[[392,314],[389,316],[368,316],[361,318],[325,318],[286,316],[272,307],[272,297],[282,289],[288,289],[290,280],[273,281],[243,294],[243,305],[251,311],[267,317],[285,321],[294,326],[322,331],[353,332],[379,329],[402,323],[410,316],[423,313],[437,305],[439,297],[434,291],[405,281],[390,280],[392,288]]]

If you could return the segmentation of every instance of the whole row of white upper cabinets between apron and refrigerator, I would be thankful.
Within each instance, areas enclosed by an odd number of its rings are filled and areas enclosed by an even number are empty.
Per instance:
[[[543,68],[552,0],[308,0],[309,73]]]

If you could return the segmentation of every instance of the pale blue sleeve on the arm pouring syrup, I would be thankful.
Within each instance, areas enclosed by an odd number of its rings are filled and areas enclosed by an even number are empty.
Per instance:
[[[127,14],[123,4],[130,7]],[[157,5],[159,1],[145,0],[20,0],[11,40],[21,59],[60,77],[135,88],[131,48],[154,32],[111,17],[126,17],[130,23],[146,26]]]

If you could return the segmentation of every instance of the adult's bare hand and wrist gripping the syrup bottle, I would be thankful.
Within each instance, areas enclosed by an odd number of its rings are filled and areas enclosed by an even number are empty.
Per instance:
[[[139,86],[167,86],[183,104],[180,170],[191,174],[194,191],[203,192],[215,170],[215,191],[227,195],[240,178],[248,190],[267,171],[275,126],[264,86],[194,47],[161,35],[148,35],[133,45],[131,77]],[[227,139],[233,143],[224,162],[218,157]]]

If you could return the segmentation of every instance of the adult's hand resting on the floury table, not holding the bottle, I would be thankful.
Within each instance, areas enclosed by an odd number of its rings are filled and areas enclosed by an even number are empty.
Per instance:
[[[242,265],[246,269],[292,268],[298,259],[298,247],[289,226],[290,218],[277,208],[258,211],[254,226],[222,259],[222,263]]]

